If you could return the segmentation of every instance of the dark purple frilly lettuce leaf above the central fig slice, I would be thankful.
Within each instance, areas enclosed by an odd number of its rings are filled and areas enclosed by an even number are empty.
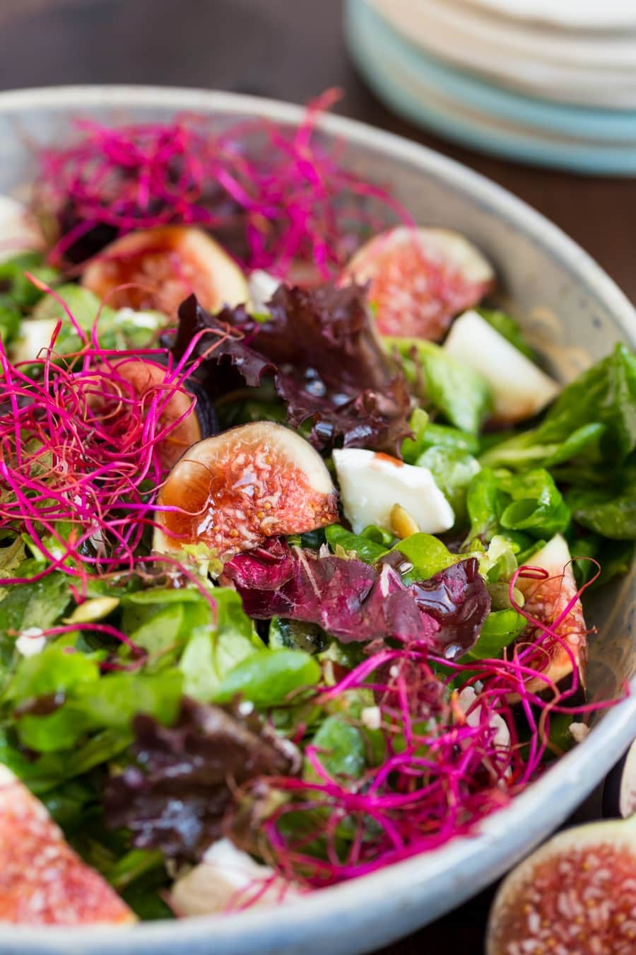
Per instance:
[[[191,296],[166,344],[179,359],[200,335],[192,355],[206,357],[195,378],[213,398],[273,377],[289,423],[310,421],[318,449],[341,440],[399,453],[410,434],[408,387],[380,347],[359,287],[279,286],[271,310],[259,324],[243,306],[210,315]]]

